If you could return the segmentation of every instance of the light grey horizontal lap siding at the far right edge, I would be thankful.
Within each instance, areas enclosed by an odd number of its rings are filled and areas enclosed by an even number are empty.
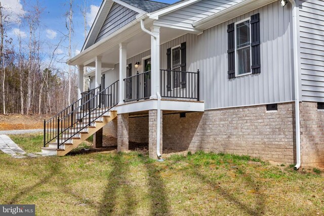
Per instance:
[[[324,102],[324,1],[299,1],[303,101]]]

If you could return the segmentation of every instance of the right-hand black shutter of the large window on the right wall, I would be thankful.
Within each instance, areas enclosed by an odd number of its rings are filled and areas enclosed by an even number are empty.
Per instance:
[[[251,16],[251,51],[252,51],[252,73],[261,73],[260,55],[260,14]]]

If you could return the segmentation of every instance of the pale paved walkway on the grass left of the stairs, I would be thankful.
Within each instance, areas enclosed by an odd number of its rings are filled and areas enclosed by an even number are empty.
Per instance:
[[[0,150],[14,158],[38,157],[40,155],[26,153],[7,135],[0,135]]]

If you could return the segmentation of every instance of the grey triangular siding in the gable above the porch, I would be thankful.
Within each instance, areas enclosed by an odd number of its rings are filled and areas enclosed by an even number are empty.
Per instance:
[[[114,3],[103,23],[95,43],[136,19],[138,13]]]

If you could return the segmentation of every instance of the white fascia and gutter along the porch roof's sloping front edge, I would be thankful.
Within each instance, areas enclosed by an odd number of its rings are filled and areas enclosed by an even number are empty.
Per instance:
[[[131,29],[132,27],[134,27],[135,25],[137,25],[141,19],[145,19],[147,17],[146,14],[143,14],[141,17],[137,18],[136,20],[130,22],[129,24],[127,24],[124,27],[121,27],[120,29],[118,29],[117,31],[113,32],[112,34],[110,34],[109,36],[105,37],[104,39],[96,42],[96,44],[92,45],[91,47],[89,47],[88,49],[84,50],[83,52],[79,53],[78,55],[74,56],[73,58],[67,60],[66,64],[68,65],[83,65],[83,63],[77,62],[80,58],[84,57],[85,55],[93,52],[94,50],[98,49],[98,48],[105,48],[106,50],[108,50],[110,47],[106,47],[104,46],[107,42],[109,42],[109,40],[111,39],[117,39],[119,38],[118,36],[124,36],[123,38],[121,38],[120,40],[129,38],[130,34],[127,33],[127,30]],[[140,29],[140,27],[139,27]],[[122,41],[121,41],[122,42]],[[119,43],[119,42],[118,42]],[[114,44],[117,45],[118,43]],[[95,57],[95,56],[93,56]]]

